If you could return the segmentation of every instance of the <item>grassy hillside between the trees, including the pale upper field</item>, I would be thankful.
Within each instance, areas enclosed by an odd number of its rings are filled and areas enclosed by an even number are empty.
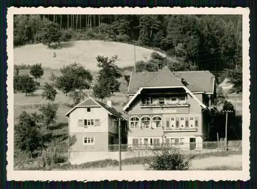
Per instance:
[[[53,58],[53,52],[56,52],[57,56]],[[146,60],[150,58],[153,50],[136,47],[136,59]],[[62,43],[61,49],[48,49],[42,44],[25,45],[22,47],[14,48],[14,64],[16,65],[33,65],[40,62],[44,68],[44,75],[40,82],[40,87],[33,94],[14,93],[14,124],[19,123],[19,116],[22,111],[29,113],[38,112],[39,108],[48,103],[47,100],[42,99],[42,86],[46,82],[51,82],[49,77],[53,72],[57,77],[61,74],[60,68],[69,63],[80,63],[86,69],[89,69],[91,73],[97,75],[97,55],[104,55],[111,58],[112,55],[118,55],[117,65],[120,68],[131,67],[134,64],[134,46],[130,44],[116,43],[116,42],[102,42],[102,41],[74,41]],[[114,96],[105,99],[105,101],[111,99],[113,106],[118,111],[122,111],[122,106],[126,101],[127,82],[124,79],[124,75],[130,75],[130,71],[125,69],[123,76],[119,79],[120,92],[114,94]],[[96,78],[96,77],[95,77]],[[54,103],[59,105],[57,111],[57,122],[52,124],[49,130],[52,131],[51,142],[58,142],[62,146],[61,156],[67,159],[68,153],[68,119],[64,116],[70,109],[70,104],[73,104],[72,99],[66,97],[66,95],[57,89],[56,99]],[[89,95],[92,91],[85,90]],[[42,126],[42,132],[45,131],[45,126]],[[37,157],[33,159],[29,158],[29,153],[22,152],[20,149],[14,149],[14,166],[26,167],[30,164],[38,161]]]

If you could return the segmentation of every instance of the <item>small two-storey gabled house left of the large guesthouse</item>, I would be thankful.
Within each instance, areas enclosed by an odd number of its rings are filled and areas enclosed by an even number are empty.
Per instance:
[[[121,143],[126,143],[124,117],[112,107],[93,98],[76,105],[65,115],[68,118],[69,136],[76,142],[69,147],[69,155],[85,151],[108,151],[110,144],[119,144],[118,119],[121,121]]]

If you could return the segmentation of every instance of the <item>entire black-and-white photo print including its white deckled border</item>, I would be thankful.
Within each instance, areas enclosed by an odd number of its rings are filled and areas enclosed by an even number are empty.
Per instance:
[[[8,11],[10,177],[249,177],[248,9],[46,9]]]

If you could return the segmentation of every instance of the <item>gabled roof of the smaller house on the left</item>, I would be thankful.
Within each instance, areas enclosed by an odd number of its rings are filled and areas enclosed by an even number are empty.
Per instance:
[[[79,103],[78,105],[76,105],[75,107],[73,107],[71,110],[69,110],[67,112],[67,114],[65,114],[66,117],[69,116],[69,114],[75,110],[76,108],[83,108],[83,107],[102,107],[104,108],[110,115],[116,116],[118,118],[122,118],[122,114],[120,112],[118,112],[116,109],[114,109],[113,107],[108,106],[107,104],[93,99],[91,97],[89,97],[88,99],[84,100],[83,102]]]

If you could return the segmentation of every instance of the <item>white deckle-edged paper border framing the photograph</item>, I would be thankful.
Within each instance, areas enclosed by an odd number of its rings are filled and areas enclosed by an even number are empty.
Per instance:
[[[249,8],[58,8],[58,7],[10,7],[7,11],[7,180],[249,180],[250,179],[250,57],[249,57]],[[14,14],[242,14],[243,15],[243,123],[242,171],[14,171],[14,91],[13,91],[13,15]]]

